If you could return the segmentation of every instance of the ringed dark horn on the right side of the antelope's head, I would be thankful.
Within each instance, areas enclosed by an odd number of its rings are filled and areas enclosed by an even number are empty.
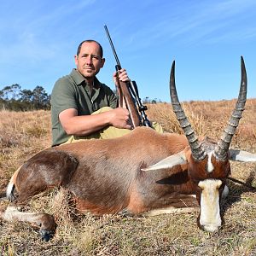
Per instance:
[[[239,120],[241,119],[241,113],[244,110],[245,103],[247,101],[247,72],[243,57],[241,56],[241,84],[239,96],[236,102],[236,108],[230,117],[228,125],[224,129],[224,133],[218,141],[218,145],[214,149],[214,155],[218,160],[226,160],[228,158],[228,151],[231,143],[231,139],[236,132]]]

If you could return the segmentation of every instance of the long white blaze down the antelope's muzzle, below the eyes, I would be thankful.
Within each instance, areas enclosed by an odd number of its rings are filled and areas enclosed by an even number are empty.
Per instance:
[[[221,184],[219,179],[206,179],[198,183],[202,189],[200,224],[208,232],[216,231],[221,226],[218,193]]]

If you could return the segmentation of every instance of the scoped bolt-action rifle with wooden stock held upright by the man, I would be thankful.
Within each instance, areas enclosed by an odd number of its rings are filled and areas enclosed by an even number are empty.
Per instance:
[[[113,47],[113,43],[108,32],[108,27],[105,25],[104,28],[108,36],[108,41],[113,50],[115,61],[117,63],[115,69],[117,72],[119,72],[119,70],[122,68],[119,62],[119,58]],[[125,102],[125,108],[127,108],[130,113],[131,125],[133,128],[142,125],[151,127],[150,121],[148,120],[147,114],[145,113],[148,108],[141,102],[135,81],[125,83],[118,80],[117,94],[119,96],[119,107],[123,108]]]

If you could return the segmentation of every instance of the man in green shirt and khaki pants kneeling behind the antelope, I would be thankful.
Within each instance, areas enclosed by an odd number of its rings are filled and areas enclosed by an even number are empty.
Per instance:
[[[74,60],[77,68],[58,79],[51,94],[52,145],[73,143],[82,138],[119,137],[130,132],[128,110],[116,108],[113,91],[96,79],[105,63],[101,44],[83,41]],[[119,71],[118,77],[123,82],[130,80],[125,69]],[[115,84],[117,79],[114,73]],[[107,136],[106,127],[114,129]]]

